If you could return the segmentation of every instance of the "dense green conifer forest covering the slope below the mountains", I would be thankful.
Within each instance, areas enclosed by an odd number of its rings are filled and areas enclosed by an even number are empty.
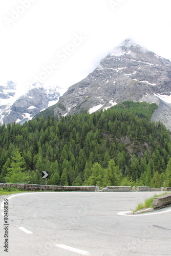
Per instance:
[[[170,132],[155,103],[125,101],[93,114],[0,127],[0,183],[171,186]]]

